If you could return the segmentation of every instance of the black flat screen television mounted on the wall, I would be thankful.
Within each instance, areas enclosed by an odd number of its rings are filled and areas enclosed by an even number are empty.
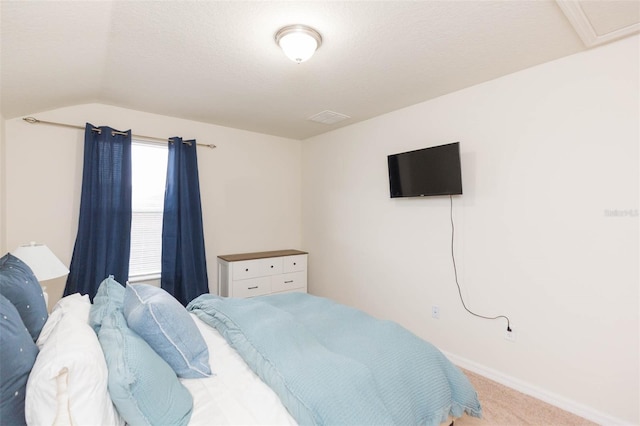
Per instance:
[[[391,198],[462,194],[460,142],[392,154]]]

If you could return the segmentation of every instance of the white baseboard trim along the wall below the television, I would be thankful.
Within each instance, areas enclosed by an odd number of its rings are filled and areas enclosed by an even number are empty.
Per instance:
[[[487,379],[493,380],[494,382],[498,382],[502,385],[510,387],[511,389],[515,389],[526,395],[532,396],[548,404],[556,406],[562,410],[568,411],[587,420],[591,420],[592,422],[598,423],[599,425],[633,426],[632,423],[629,423],[625,420],[618,419],[598,410],[594,410],[593,408],[588,407],[584,404],[580,404],[563,396],[549,392],[545,389],[533,386],[522,380],[516,379],[515,377],[511,377],[507,374],[501,373],[500,371],[478,364],[475,361],[471,361],[450,352],[442,352],[446,355],[447,358],[451,360],[451,362],[453,362],[460,368],[464,368],[465,370],[469,370],[473,373],[484,376]]]

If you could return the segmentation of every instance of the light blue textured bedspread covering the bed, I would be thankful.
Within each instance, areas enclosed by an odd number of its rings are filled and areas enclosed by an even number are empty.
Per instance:
[[[301,425],[438,425],[480,417],[466,376],[400,325],[305,293],[202,295],[215,327]],[[212,354],[215,370],[215,354]]]

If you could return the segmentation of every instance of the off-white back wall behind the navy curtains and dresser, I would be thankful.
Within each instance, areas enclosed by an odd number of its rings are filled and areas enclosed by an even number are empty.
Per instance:
[[[40,120],[132,129],[134,134],[196,138],[209,288],[217,287],[216,257],[299,248],[301,143],[107,105],[33,113]],[[21,118],[6,120],[6,244],[46,243],[69,264],[78,225],[84,131]],[[3,238],[4,239],[4,238]],[[50,306],[66,278],[44,285]]]

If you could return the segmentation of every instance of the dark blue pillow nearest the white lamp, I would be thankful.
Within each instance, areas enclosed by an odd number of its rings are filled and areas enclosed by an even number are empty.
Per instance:
[[[0,259],[0,294],[16,307],[35,342],[49,317],[47,304],[31,268],[11,253]]]

